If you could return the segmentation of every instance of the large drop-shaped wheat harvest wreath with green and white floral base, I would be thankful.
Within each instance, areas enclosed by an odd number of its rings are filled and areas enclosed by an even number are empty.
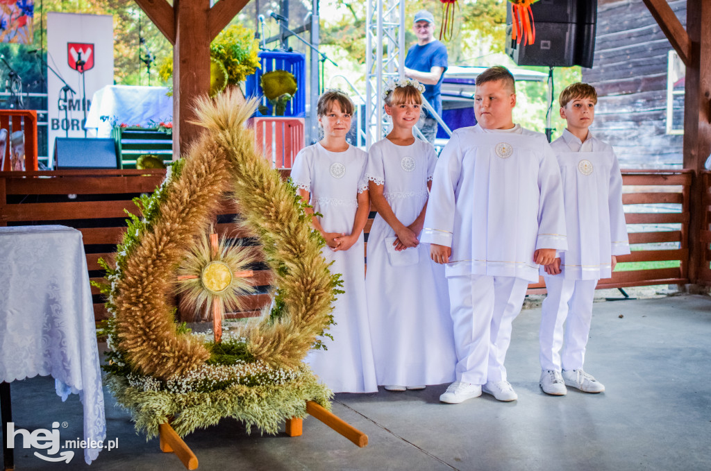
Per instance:
[[[101,261],[107,384],[149,437],[168,421],[186,435],[224,417],[276,433],[285,419],[306,416],[306,401],[330,407],[331,391],[302,359],[333,323],[340,275],[328,271],[324,240],[294,187],[255,151],[244,124],[256,103],[241,100],[233,90],[198,100],[206,131],[152,195],[135,200],[142,216],[129,215],[114,262]],[[261,319],[225,323],[215,343],[210,332],[176,323],[169,299],[178,266],[225,193],[262,243],[275,288]]]

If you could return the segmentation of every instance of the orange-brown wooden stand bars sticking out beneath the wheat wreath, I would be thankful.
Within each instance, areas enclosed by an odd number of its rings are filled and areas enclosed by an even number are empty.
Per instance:
[[[348,438],[348,440],[351,440],[360,448],[368,445],[368,435],[365,435],[365,433],[333,415],[333,413],[326,411],[325,408],[316,404],[314,401],[306,401],[306,412],[333,428],[333,430]],[[301,436],[303,422],[301,418],[287,419],[287,435],[290,437]],[[198,469],[198,458],[195,453],[186,445],[168,422],[161,423],[159,426],[159,445],[163,453],[175,453],[181,462],[183,462],[186,469]]]

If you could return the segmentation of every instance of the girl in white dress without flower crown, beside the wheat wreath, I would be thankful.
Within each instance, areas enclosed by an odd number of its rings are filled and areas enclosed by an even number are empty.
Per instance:
[[[340,273],[343,291],[333,308],[324,338],[328,350],[312,350],[305,362],[333,392],[377,392],[373,347],[365,301],[363,227],[368,222],[368,182],[363,175],[368,154],[346,142],[353,102],[340,90],[319,98],[317,113],[324,139],[296,155],[292,180],[304,201],[313,206],[314,229],[326,240],[323,255]]]

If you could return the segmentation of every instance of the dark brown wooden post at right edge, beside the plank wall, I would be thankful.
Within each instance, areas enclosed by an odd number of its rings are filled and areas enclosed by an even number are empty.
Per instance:
[[[684,168],[696,171],[689,190],[690,224],[687,234],[690,283],[700,283],[705,244],[705,185],[701,170],[711,153],[711,2],[688,0],[686,28],[691,41],[691,60],[686,66],[684,95]]]

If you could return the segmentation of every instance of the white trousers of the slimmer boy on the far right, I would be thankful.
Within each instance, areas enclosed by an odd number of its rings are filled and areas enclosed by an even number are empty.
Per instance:
[[[582,368],[597,280],[544,278],[548,296],[543,300],[540,320],[540,367],[559,372]]]

